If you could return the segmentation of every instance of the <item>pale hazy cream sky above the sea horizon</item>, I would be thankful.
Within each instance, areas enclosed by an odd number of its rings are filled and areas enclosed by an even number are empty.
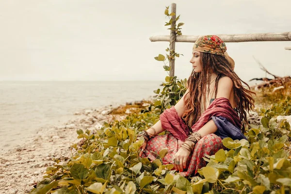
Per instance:
[[[291,0],[0,0],[0,81],[163,81],[154,59],[168,42],[165,6],[177,3],[183,35],[291,32]],[[226,43],[244,81],[291,75],[291,41]],[[188,78],[193,43],[175,75]]]

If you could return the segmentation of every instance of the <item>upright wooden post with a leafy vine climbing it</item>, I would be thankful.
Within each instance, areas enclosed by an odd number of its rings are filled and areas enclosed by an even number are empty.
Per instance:
[[[175,28],[176,26],[176,3],[171,4],[171,13],[175,13],[174,16],[172,16],[172,24],[171,28]],[[176,31],[171,30],[170,33],[170,53],[173,50],[175,52],[175,42],[176,42]],[[174,53],[173,52],[173,53]],[[170,76],[174,77],[175,76],[175,59],[170,59]]]

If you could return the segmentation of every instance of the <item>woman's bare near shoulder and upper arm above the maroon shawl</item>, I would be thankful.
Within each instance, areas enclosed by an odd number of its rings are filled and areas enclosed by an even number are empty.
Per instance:
[[[216,97],[226,97],[229,99],[232,87],[233,81],[229,77],[220,78],[218,81]]]

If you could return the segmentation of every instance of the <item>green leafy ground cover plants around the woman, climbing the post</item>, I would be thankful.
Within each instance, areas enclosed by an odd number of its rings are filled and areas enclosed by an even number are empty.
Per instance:
[[[166,7],[165,15],[170,16],[172,13],[169,14],[168,9],[169,7]],[[168,23],[170,21],[166,22],[166,25]],[[181,34],[180,28],[177,32]],[[167,58],[172,56],[177,57],[177,53],[170,51]],[[165,61],[166,57],[163,55],[159,57],[156,59]],[[166,71],[169,71],[169,68],[164,66]],[[271,96],[274,95],[272,88],[257,91],[257,98],[260,98],[258,101],[263,101],[265,104],[263,108],[257,110],[262,116],[260,124],[250,125],[246,129],[245,135],[248,141],[225,138],[223,145],[226,150],[220,149],[215,155],[205,156],[207,166],[200,169],[197,176],[184,178],[172,170],[174,167],[172,164],[162,164],[167,149],[155,153],[158,159],[153,162],[138,156],[138,148],[144,140],[140,139],[136,142],[136,135],[139,131],[154,125],[164,109],[177,103],[185,92],[186,80],[167,76],[162,85],[164,86],[162,91],[159,89],[154,91],[157,97],[150,102],[146,110],[134,106],[135,111],[127,114],[123,120],[104,123],[103,127],[96,131],[77,130],[78,138],[82,139],[83,144],[72,145],[75,152],[68,161],[49,166],[46,176],[31,193],[282,194],[290,192],[290,124],[286,119],[280,122],[276,119],[278,115],[290,115],[290,97],[278,95],[278,98],[272,98]],[[290,88],[285,87],[284,92],[290,93]],[[128,108],[130,105],[127,105]],[[123,112],[119,110],[115,114],[123,114]]]

